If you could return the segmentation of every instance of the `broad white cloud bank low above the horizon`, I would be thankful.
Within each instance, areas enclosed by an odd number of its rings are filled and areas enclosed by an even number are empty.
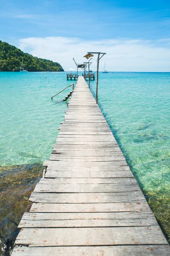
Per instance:
[[[102,41],[80,38],[45,37],[20,39],[20,49],[40,58],[59,62],[65,70],[75,68],[86,61],[86,52],[100,51],[107,54],[100,61],[100,70],[106,62],[109,71],[169,72],[170,45],[160,44],[160,40],[116,38]],[[96,57],[91,68],[96,70]],[[81,71],[81,70],[80,70]]]

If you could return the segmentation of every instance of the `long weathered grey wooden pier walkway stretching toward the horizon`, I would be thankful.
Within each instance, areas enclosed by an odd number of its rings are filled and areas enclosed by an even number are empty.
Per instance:
[[[167,240],[83,77],[59,129],[12,256],[169,256]]]

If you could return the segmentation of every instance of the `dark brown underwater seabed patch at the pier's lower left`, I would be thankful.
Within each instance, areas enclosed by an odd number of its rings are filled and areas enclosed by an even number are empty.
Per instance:
[[[19,233],[17,226],[36,183],[42,177],[42,163],[0,166],[0,255],[8,256]]]

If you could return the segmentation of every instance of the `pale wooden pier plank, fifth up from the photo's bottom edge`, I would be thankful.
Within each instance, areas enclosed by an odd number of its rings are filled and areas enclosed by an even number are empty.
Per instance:
[[[149,211],[144,203],[44,204],[33,203],[30,212],[141,212]]]

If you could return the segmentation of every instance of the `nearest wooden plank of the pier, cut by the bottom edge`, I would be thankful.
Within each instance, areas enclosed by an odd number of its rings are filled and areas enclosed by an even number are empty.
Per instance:
[[[12,256],[169,256],[168,245],[16,247]]]

